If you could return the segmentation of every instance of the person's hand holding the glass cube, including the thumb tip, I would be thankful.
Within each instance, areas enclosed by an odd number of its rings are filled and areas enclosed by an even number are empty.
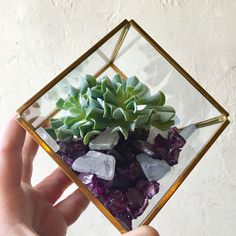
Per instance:
[[[32,162],[38,145],[12,119],[0,139],[0,235],[64,236],[89,204],[77,189],[55,204],[71,180],[58,168],[32,187]],[[143,226],[124,236],[158,236]]]

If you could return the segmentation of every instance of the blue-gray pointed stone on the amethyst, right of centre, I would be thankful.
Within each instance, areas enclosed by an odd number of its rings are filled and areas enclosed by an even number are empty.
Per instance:
[[[158,181],[170,170],[166,161],[153,159],[145,153],[137,155],[136,158],[149,181]]]

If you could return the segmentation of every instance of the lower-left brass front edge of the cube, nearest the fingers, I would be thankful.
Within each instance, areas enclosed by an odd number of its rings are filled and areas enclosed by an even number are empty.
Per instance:
[[[104,207],[104,205],[87,189],[87,187],[78,179],[71,169],[57,156],[55,152],[40,138],[40,136],[29,126],[29,124],[18,115],[17,121],[27,130],[34,140],[49,154],[49,156],[61,167],[64,173],[74,182],[79,189],[91,200],[94,205],[103,213],[103,215],[120,231],[125,233],[127,230],[116,220],[116,218]]]

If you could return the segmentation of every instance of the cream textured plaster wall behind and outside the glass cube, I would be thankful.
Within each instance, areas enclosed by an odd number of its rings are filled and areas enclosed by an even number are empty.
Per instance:
[[[236,235],[235,0],[0,0],[0,123],[124,18],[135,19],[231,115],[152,225],[163,236]],[[34,168],[36,183],[55,164],[40,150]],[[118,235],[91,204],[68,235],[98,232]]]

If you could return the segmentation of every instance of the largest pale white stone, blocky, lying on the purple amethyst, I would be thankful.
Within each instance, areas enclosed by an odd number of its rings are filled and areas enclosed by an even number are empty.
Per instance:
[[[89,151],[73,162],[72,169],[81,173],[96,174],[101,179],[112,180],[115,164],[116,160],[112,155]]]

